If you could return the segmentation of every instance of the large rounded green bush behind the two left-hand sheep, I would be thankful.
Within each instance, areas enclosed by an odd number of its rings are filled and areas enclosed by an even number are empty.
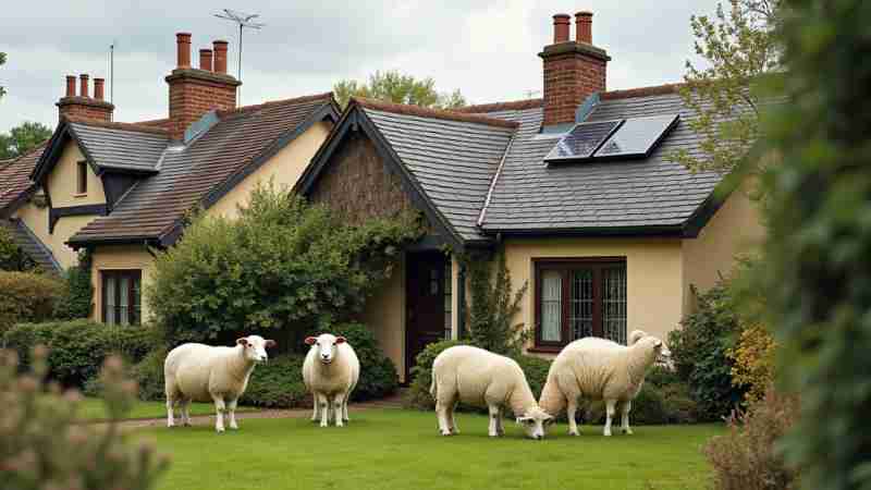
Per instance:
[[[184,240],[158,253],[149,304],[168,345],[238,333],[299,339],[353,318],[420,233],[417,216],[351,226],[324,206],[259,187],[236,220],[195,218]]]

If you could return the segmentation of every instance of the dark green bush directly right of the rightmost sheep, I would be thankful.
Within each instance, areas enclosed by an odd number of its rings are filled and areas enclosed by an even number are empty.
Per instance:
[[[701,420],[721,420],[744,400],[745,389],[732,382],[729,352],[740,333],[737,307],[728,283],[698,296],[698,309],[668,333],[678,377],[698,403]]]

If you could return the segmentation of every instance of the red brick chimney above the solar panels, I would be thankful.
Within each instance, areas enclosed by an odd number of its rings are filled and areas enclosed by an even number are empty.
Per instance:
[[[538,54],[544,62],[544,126],[574,123],[578,106],[605,90],[611,58],[592,45],[592,13],[575,14],[575,40],[569,40],[571,19],[553,16],[553,44]]]

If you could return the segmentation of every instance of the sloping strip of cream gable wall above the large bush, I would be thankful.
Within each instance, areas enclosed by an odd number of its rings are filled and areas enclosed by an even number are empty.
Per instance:
[[[319,122],[296,137],[290,145],[282,148],[262,167],[245,177],[240,184],[226,193],[218,203],[206,212],[210,216],[224,216],[235,218],[237,205],[246,205],[259,183],[267,184],[272,180],[278,188],[293,187],[303,174],[311,157],[320,148],[332,128],[332,123]]]

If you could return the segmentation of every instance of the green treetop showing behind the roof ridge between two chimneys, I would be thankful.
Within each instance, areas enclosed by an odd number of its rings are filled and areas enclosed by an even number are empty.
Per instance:
[[[375,72],[369,76],[368,83],[355,79],[340,81],[333,85],[333,93],[343,108],[347,106],[352,97],[438,109],[452,109],[466,105],[466,99],[458,89],[452,93],[439,93],[436,90],[436,81],[432,78],[416,79],[412,75],[404,75],[397,71]]]

